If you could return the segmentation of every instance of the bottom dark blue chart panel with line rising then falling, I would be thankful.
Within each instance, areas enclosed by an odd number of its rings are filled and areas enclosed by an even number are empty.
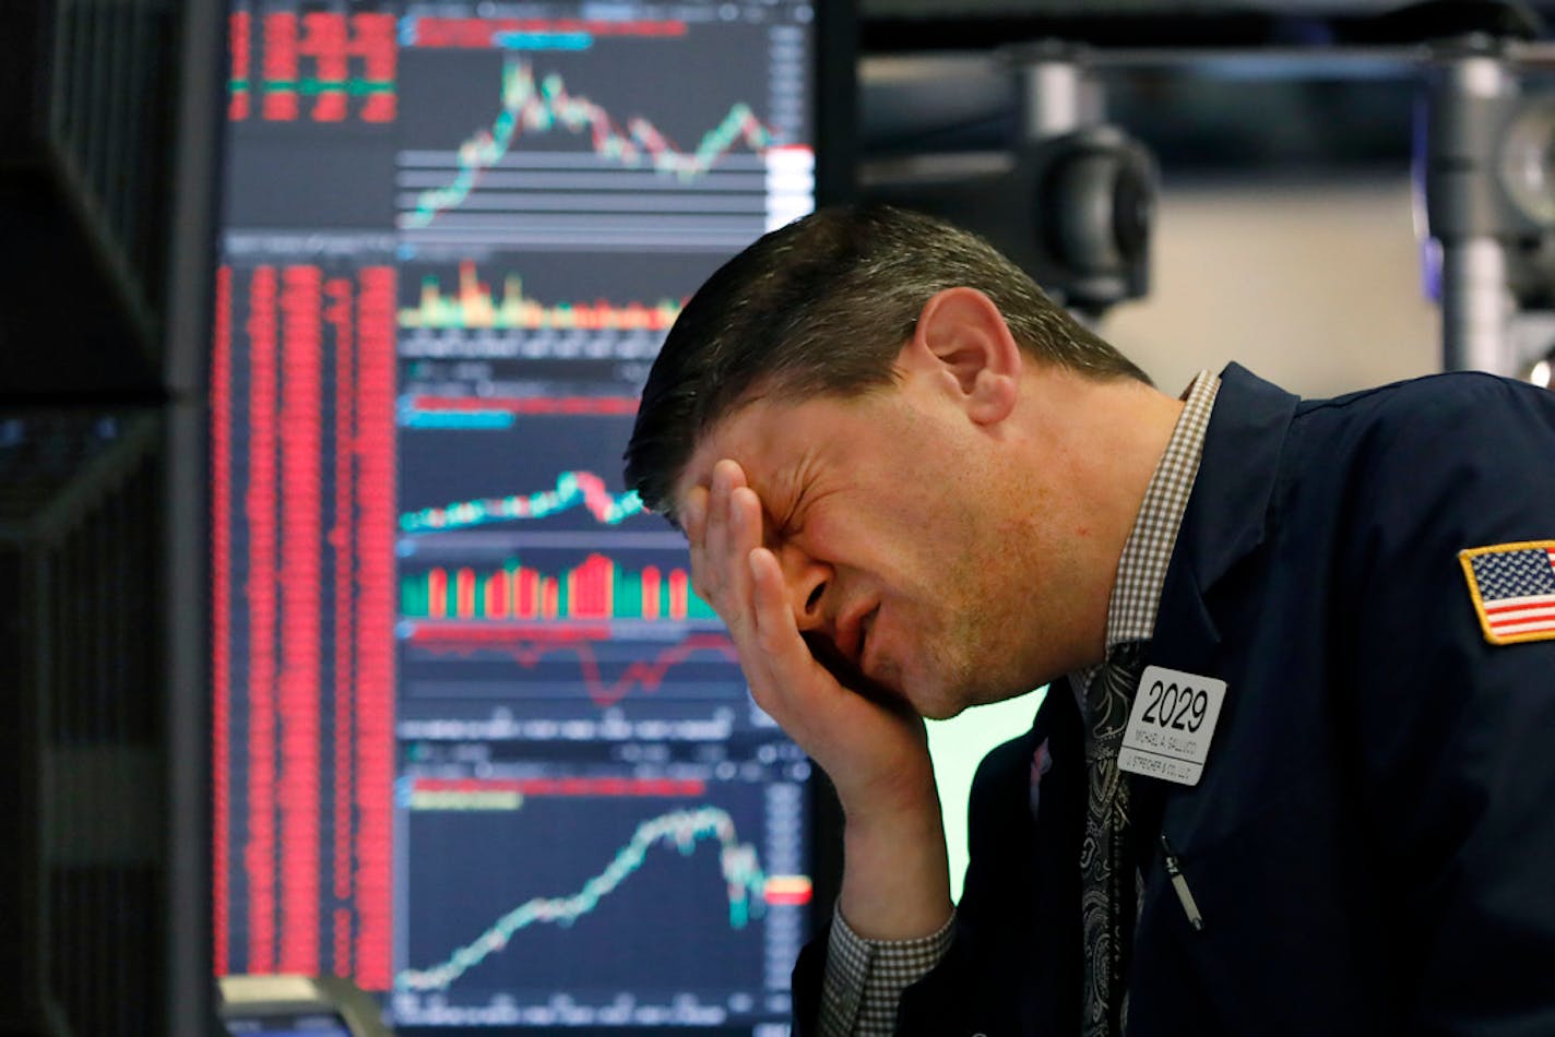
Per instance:
[[[518,777],[401,779],[412,855],[397,1015],[487,1025],[767,1018],[771,984],[762,978],[787,967],[809,880],[790,872],[804,838],[798,785],[759,780],[773,768],[751,766],[745,780],[732,763],[732,780],[695,776],[698,768],[675,777],[519,768]]]

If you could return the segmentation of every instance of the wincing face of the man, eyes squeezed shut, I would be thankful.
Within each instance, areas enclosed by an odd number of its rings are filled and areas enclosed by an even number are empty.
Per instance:
[[[812,648],[819,639],[846,661],[833,672],[851,665],[919,714],[952,717],[1067,664],[1050,602],[1071,560],[1036,521],[1062,501],[1014,456],[910,376],[849,400],[748,403],[698,445],[676,502],[736,460]]]

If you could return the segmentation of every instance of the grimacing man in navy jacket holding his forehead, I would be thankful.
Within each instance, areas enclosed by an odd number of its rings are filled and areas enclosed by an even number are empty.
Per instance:
[[[1555,401],[1155,392],[981,239],[773,232],[628,482],[832,777],[801,1032],[1555,1034]],[[921,717],[1053,681],[949,897]]]

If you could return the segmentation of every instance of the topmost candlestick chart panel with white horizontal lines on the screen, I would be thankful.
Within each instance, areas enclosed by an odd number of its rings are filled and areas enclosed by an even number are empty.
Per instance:
[[[731,93],[720,73],[740,54],[760,61],[765,36],[725,28],[722,53],[678,61],[676,90],[653,95],[619,84],[638,70],[666,76],[670,54],[694,53],[675,50],[684,37],[575,39],[575,48],[406,56],[425,72],[403,98],[404,238],[726,250],[762,233],[773,162],[791,168],[801,143],[795,127],[762,115],[765,93]],[[448,68],[456,61],[457,76]]]

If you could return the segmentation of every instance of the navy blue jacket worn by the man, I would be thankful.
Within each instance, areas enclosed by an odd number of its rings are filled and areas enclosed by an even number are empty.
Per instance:
[[[1129,779],[1204,930],[1149,857],[1127,1032],[1555,1034],[1555,641],[1488,644],[1457,557],[1555,539],[1555,395],[1222,379],[1149,662],[1225,701],[1197,787]],[[1059,683],[978,770],[955,944],[899,1032],[1078,1032],[1082,818]],[[795,970],[799,1032],[824,941]]]

